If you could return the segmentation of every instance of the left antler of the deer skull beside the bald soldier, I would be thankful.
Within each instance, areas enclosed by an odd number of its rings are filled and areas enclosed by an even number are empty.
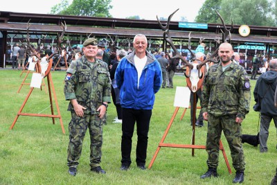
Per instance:
[[[175,10],[175,12],[177,12],[179,10],[179,8],[177,10]],[[179,58],[181,59],[183,62],[185,62],[186,66],[189,69],[193,69],[193,65],[190,64],[180,53],[179,51],[176,49],[175,45],[173,44],[170,32],[169,32],[169,24],[170,24],[170,19],[171,17],[175,14],[175,12],[172,12],[172,14],[170,16],[168,16],[168,22],[166,24],[166,26],[161,25],[161,21],[159,20],[158,16],[157,16],[157,20],[159,22],[159,26],[161,27],[161,29],[164,31],[163,32],[163,39],[166,40],[166,42],[168,42],[168,44],[170,44],[171,48],[173,49],[173,51],[175,51],[176,55],[174,57],[172,57],[171,59],[175,59],[175,58]],[[166,37],[166,35],[168,37]],[[188,46],[189,47],[189,46]],[[188,75],[186,75],[186,78],[190,78],[190,72],[188,73]]]

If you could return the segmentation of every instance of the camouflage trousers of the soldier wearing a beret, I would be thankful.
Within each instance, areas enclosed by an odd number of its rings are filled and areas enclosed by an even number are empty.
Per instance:
[[[69,123],[69,148],[67,150],[67,166],[77,168],[82,153],[82,142],[89,127],[91,140],[90,163],[91,168],[100,166],[102,148],[102,124],[104,120],[98,114],[84,114],[79,117],[75,112],[71,112],[71,122]]]

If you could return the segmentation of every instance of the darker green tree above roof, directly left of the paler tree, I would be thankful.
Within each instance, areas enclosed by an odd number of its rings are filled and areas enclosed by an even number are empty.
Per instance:
[[[195,22],[198,23],[217,23],[220,21],[215,10],[220,10],[220,3],[222,0],[206,0],[198,11],[195,17]]]

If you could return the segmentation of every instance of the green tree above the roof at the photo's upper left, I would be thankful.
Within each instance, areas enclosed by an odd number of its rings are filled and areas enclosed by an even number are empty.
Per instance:
[[[62,3],[51,8],[51,12],[53,10],[59,15],[111,17],[111,0],[73,0],[69,6],[66,3],[68,4],[68,0],[62,0]]]

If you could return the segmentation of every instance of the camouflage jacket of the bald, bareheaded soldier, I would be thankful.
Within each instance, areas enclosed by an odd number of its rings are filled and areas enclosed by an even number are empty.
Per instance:
[[[234,62],[223,72],[222,64],[208,69],[202,91],[202,112],[214,116],[235,114],[244,119],[250,106],[250,82],[243,67]]]

